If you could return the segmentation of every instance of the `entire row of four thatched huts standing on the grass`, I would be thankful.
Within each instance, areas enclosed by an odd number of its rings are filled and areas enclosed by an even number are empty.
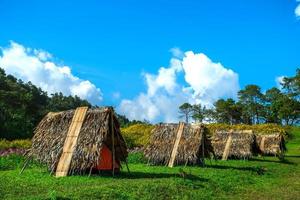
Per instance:
[[[249,158],[256,154],[281,155],[281,134],[259,135],[248,131],[215,131],[209,135],[200,124],[158,124],[144,155],[151,164],[196,165],[204,158]],[[45,163],[51,173],[66,176],[121,167],[128,156],[126,142],[113,108],[48,113],[35,129],[28,153]]]

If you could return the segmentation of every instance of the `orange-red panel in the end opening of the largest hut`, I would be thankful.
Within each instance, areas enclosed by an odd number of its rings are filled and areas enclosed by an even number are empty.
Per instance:
[[[96,166],[97,170],[112,170],[112,153],[110,149],[103,145],[100,153],[100,162]],[[115,170],[120,169],[120,164],[118,160],[115,160]]]

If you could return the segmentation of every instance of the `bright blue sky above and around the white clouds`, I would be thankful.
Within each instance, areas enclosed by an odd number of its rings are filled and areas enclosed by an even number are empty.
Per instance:
[[[100,105],[118,107],[147,95],[145,74],[159,76],[160,67],[170,67],[174,47],[220,62],[238,75],[241,88],[254,83],[265,90],[300,66],[299,3],[1,0],[0,46],[14,41],[49,52],[52,62],[101,90]],[[189,87],[185,73],[175,72],[176,84]]]

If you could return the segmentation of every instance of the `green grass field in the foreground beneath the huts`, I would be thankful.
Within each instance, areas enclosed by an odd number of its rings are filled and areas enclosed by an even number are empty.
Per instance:
[[[300,199],[300,129],[294,128],[284,161],[274,157],[212,161],[201,167],[147,166],[130,155],[129,168],[107,175],[55,178],[24,158],[0,158],[0,199]],[[180,176],[180,168],[188,175]]]

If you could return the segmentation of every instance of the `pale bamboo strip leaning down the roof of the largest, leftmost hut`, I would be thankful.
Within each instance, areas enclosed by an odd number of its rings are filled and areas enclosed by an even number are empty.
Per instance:
[[[88,107],[79,107],[75,110],[64,143],[63,153],[57,165],[56,174],[55,174],[56,177],[63,177],[68,175],[73,152],[77,144],[78,135],[80,133],[80,129],[82,127],[82,123],[84,121],[87,110]]]

